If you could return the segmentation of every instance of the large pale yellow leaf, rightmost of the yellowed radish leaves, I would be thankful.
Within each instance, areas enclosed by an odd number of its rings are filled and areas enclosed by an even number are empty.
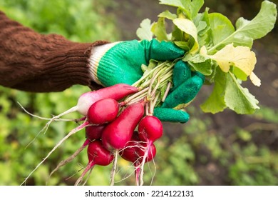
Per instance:
[[[222,71],[228,72],[230,66],[237,66],[244,74],[249,76],[257,62],[256,55],[247,46],[236,46],[228,44],[214,55],[207,55],[210,59],[217,61]]]

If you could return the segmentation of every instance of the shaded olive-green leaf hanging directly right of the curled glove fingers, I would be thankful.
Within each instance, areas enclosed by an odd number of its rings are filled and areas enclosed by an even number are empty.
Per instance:
[[[216,114],[223,111],[227,106],[225,104],[225,85],[226,85],[227,73],[224,73],[219,67],[215,69],[215,86],[212,93],[207,100],[200,105],[200,108],[204,112],[210,112]]]

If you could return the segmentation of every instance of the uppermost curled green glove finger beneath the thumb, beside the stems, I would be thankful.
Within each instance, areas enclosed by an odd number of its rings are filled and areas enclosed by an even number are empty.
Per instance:
[[[190,67],[182,60],[177,61],[173,69],[173,87],[171,91],[175,90],[183,82],[191,77]]]

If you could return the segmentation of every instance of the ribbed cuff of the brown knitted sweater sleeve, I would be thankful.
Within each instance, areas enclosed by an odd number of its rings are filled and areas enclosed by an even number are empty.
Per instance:
[[[90,57],[94,48],[107,43],[107,41],[96,41],[92,44],[73,43],[65,51],[49,56],[44,62],[48,67],[43,71],[52,77],[52,82],[57,84],[58,91],[74,84],[99,89],[101,86],[91,76]]]

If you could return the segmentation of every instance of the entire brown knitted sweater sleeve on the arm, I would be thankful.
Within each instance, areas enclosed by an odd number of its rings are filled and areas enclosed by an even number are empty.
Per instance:
[[[91,81],[88,58],[93,46],[106,41],[78,43],[57,34],[38,34],[0,11],[0,85],[24,91],[63,91]]]

